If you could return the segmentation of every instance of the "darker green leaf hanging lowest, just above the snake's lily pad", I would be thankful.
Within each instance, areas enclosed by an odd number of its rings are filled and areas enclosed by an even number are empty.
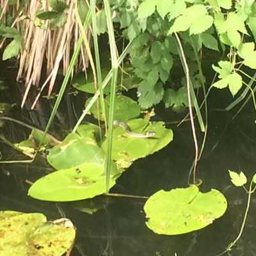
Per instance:
[[[164,88],[162,83],[150,85],[147,81],[140,83],[138,87],[139,104],[141,108],[150,108],[163,99]]]

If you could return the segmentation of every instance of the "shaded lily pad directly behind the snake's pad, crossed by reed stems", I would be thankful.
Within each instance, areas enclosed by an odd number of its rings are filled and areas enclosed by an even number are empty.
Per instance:
[[[88,102],[90,102],[91,99],[92,98],[86,100],[85,106],[88,105]],[[108,120],[108,114],[109,114],[109,100],[110,100],[110,97],[108,95],[106,99],[104,99],[107,120]],[[126,121],[132,118],[136,118],[140,115],[140,110],[141,110],[140,106],[137,104],[136,101],[122,94],[116,95],[114,119],[117,119],[120,121]],[[96,103],[93,104],[90,111],[95,118],[104,120],[102,111],[101,109],[99,109],[99,106],[97,106]]]

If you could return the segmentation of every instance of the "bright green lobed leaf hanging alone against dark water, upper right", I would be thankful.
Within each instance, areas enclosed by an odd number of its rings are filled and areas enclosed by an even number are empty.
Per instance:
[[[212,86],[223,89],[228,86],[232,95],[236,95],[239,89],[242,87],[242,77],[237,73],[231,73],[233,70],[232,64],[228,61],[219,61],[219,67],[212,65],[212,68],[218,72],[221,78],[219,81],[212,84]]]

